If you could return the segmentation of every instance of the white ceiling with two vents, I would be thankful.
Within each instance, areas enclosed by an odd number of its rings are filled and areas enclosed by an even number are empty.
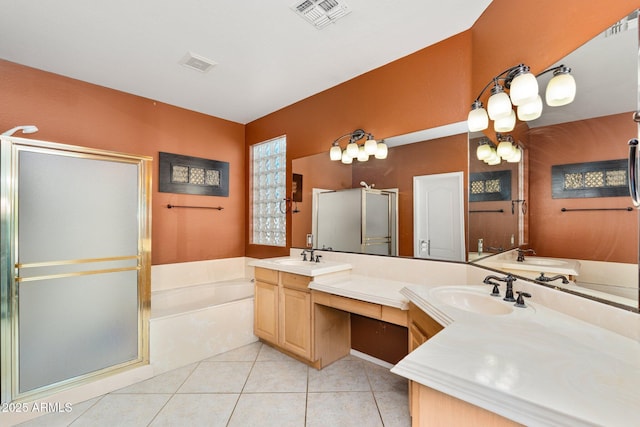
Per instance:
[[[491,0],[0,0],[0,58],[248,123],[469,29]],[[218,63],[180,65],[188,52]]]

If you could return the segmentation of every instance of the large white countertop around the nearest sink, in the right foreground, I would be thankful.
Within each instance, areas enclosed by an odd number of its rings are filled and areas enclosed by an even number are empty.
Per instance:
[[[402,293],[446,328],[392,372],[528,426],[640,425],[640,343],[529,302],[456,309],[431,289]]]

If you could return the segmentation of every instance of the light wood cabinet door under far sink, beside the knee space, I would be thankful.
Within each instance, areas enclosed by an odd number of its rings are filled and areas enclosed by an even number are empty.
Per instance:
[[[305,359],[311,359],[311,294],[282,288],[280,345]]]

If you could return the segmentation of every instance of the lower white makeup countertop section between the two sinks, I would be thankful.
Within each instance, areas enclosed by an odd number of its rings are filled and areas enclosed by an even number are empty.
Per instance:
[[[407,310],[409,299],[402,295],[400,290],[410,285],[406,282],[351,274],[338,277],[318,277],[309,283],[309,288]]]

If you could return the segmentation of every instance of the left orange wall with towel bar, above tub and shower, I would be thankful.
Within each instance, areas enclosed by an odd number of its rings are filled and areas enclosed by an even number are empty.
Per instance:
[[[0,129],[35,124],[25,137],[154,158],[153,264],[244,255],[243,125],[1,60],[0,93]],[[159,151],[229,162],[229,197],[159,193]]]

